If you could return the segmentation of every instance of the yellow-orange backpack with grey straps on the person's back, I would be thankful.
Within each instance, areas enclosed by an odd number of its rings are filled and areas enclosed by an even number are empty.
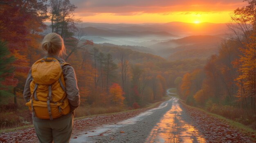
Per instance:
[[[31,97],[26,106],[34,117],[54,119],[70,112],[62,67],[69,65],[55,58],[44,57],[31,67]]]

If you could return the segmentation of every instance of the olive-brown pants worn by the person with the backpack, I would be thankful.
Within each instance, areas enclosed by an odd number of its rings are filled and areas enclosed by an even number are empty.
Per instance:
[[[39,143],[68,143],[73,129],[73,114],[57,121],[33,121]]]

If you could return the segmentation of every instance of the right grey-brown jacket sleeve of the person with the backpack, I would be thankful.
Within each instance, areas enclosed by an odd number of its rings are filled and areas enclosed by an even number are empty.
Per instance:
[[[76,74],[72,66],[63,67],[63,76],[66,84],[67,99],[70,103],[71,112],[80,104],[79,89],[77,87]]]

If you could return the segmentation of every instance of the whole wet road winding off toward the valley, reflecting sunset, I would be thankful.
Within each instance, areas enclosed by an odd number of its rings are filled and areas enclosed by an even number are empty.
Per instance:
[[[85,134],[86,132],[86,134]],[[77,134],[70,143],[205,143],[178,99],[119,123]]]

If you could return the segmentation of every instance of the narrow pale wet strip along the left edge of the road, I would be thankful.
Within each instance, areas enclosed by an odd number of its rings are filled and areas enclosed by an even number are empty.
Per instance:
[[[173,100],[173,98],[170,99],[170,100]],[[106,134],[109,134],[111,132],[117,131],[118,128],[123,127],[125,125],[135,124],[137,121],[141,121],[146,116],[152,114],[155,110],[164,108],[167,105],[168,105],[168,101],[165,101],[162,104],[160,104],[160,106],[158,106],[157,108],[153,108],[153,109],[150,109],[146,112],[142,112],[139,115],[137,115],[136,117],[129,118],[129,119],[126,119],[124,121],[120,121],[116,124],[109,124],[109,125],[100,126],[100,127],[96,128],[95,130],[87,131],[86,132],[87,134],[85,134],[85,132],[81,132],[78,136],[76,136],[77,137],[76,139],[71,139],[70,143],[86,143],[86,142],[93,141],[93,136],[99,136],[100,134],[106,135]]]

